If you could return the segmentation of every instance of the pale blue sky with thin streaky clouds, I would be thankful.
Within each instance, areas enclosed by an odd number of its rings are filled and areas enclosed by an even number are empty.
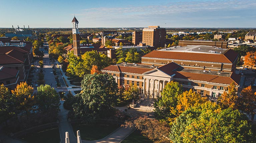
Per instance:
[[[0,27],[256,27],[256,0],[0,0]]]

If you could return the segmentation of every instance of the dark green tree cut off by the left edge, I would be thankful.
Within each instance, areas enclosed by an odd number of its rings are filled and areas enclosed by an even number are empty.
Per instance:
[[[14,115],[14,101],[15,98],[8,88],[6,88],[3,84],[0,85],[0,122],[6,121]]]

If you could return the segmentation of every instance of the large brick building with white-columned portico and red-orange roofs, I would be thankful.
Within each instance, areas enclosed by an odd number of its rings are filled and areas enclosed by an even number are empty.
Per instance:
[[[146,54],[142,64],[119,63],[102,72],[111,74],[118,86],[137,85],[141,94],[153,98],[161,96],[166,83],[177,81],[184,91],[193,89],[217,100],[230,83],[234,82],[237,89],[241,85],[241,76],[235,73],[237,57],[231,49],[171,47]]]

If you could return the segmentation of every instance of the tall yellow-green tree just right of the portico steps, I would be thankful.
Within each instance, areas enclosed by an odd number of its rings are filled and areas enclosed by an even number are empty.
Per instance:
[[[178,82],[168,82],[155,102],[155,117],[157,119],[171,119],[177,116],[178,96],[182,94],[182,85]]]

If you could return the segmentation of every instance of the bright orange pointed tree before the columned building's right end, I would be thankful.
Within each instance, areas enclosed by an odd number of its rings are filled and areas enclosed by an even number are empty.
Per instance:
[[[237,109],[237,99],[238,96],[236,94],[236,86],[235,83],[232,82],[228,86],[228,92],[224,92],[221,97],[218,98],[218,101],[220,102],[220,105],[223,108],[232,108]]]

